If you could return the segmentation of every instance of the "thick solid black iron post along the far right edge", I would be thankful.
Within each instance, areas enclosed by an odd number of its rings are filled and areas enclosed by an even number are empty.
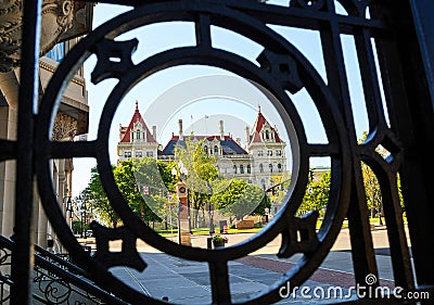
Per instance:
[[[432,0],[405,1],[392,5],[378,1],[371,10],[374,16],[386,15],[395,25],[397,35],[375,40],[383,88],[391,116],[391,129],[399,136],[403,160],[399,165],[403,198],[406,207],[408,229],[411,238],[411,253],[418,284],[434,283],[434,239],[432,221],[433,194],[431,154],[423,153],[434,142],[433,84],[427,82],[424,47],[432,36],[418,37],[423,26],[432,31],[434,20]],[[414,10],[425,16],[420,24]],[[427,31],[427,33],[429,33]],[[422,40],[420,40],[422,39]],[[426,50],[425,50],[426,51]],[[432,52],[433,53],[433,52]]]

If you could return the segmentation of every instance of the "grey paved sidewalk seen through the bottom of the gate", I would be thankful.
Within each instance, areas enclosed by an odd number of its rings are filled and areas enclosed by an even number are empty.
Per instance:
[[[234,236],[229,236],[234,240]],[[241,237],[240,237],[241,238]],[[245,239],[245,237],[244,237]],[[194,243],[203,243],[199,238]],[[206,242],[206,239],[205,239]],[[279,241],[276,242],[280,245]],[[301,255],[294,255],[288,259],[279,259],[276,255],[276,245],[254,253],[235,262],[229,263],[229,279],[232,302],[265,291],[277,282],[282,274],[288,271]],[[209,272],[206,263],[191,262],[179,257],[173,257],[161,253],[146,245],[139,246],[141,256],[146,262],[144,271],[138,272],[126,267],[112,268],[112,272],[133,289],[154,298],[167,297],[169,303],[176,304],[210,304],[212,294],[209,287]],[[384,287],[393,287],[393,274],[391,258],[384,251],[379,251],[376,256],[380,268],[380,283]],[[339,246],[330,252],[321,267],[314,272],[304,285],[315,289],[321,287],[341,287],[344,294],[354,284],[352,254],[348,250]],[[353,294],[353,297],[355,295]],[[303,304],[307,300],[301,296],[283,298],[278,304]],[[319,301],[312,296],[309,304],[336,303],[337,300]],[[348,301],[342,300],[342,301]]]

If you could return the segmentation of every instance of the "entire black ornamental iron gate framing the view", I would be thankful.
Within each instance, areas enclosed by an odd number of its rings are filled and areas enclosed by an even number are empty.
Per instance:
[[[25,1],[25,33],[39,31],[36,17],[39,2]],[[2,140],[0,149],[0,161],[17,160],[17,183],[21,188],[16,196],[16,246],[12,255],[14,304],[25,304],[29,300],[33,227],[31,205],[28,203],[33,200],[34,174],[51,225],[75,262],[91,275],[94,282],[128,303],[163,304],[125,285],[107,270],[111,266],[133,266],[139,270],[145,268],[146,263],[139,258],[137,250],[131,246],[136,239],[170,255],[207,262],[213,303],[232,304],[228,262],[243,257],[282,234],[281,251],[277,255],[304,255],[268,291],[243,303],[268,304],[280,300],[279,288],[288,281],[301,285],[311,276],[333,245],[344,217],[349,220],[356,282],[365,284],[367,275],[378,276],[378,267],[367,217],[361,161],[373,169],[380,181],[395,284],[409,290],[424,287],[433,292],[434,225],[431,218],[434,215],[434,195],[430,183],[432,166],[429,164],[432,162],[424,152],[434,143],[433,58],[430,55],[434,53],[434,48],[433,38],[424,35],[424,30],[433,33],[433,22],[427,18],[427,12],[434,12],[434,3],[429,0],[418,3],[403,1],[399,5],[392,0],[337,1],[347,12],[347,15],[342,15],[336,13],[334,0],[292,0],[286,7],[253,0],[101,2],[133,5],[135,9],[91,31],[67,54],[44,92],[37,116],[33,114],[37,97],[33,86],[37,66],[31,60],[38,53],[37,41],[23,46],[23,54],[29,59],[22,63],[18,138],[16,142]],[[194,23],[196,46],[168,50],[135,64],[131,55],[138,40],[115,40],[119,35],[140,26],[170,21]],[[317,30],[321,40],[327,84],[306,58],[267,24]],[[229,51],[213,48],[210,26],[232,30],[264,47],[257,64]],[[341,40],[343,34],[354,37],[363,85],[369,135],[362,144],[358,144],[356,139]],[[98,138],[89,142],[52,141],[51,126],[63,89],[74,72],[91,54],[98,58],[92,73],[94,84],[107,78],[118,80],[104,103]],[[386,111],[381,97],[375,56],[379,59]],[[117,60],[112,61],[113,58]],[[222,250],[188,247],[159,237],[127,207],[110,166],[108,129],[122,98],[153,73],[182,64],[217,66],[250,79],[271,98],[283,120],[291,122],[286,128],[296,156],[289,188],[291,195],[267,230],[246,242]],[[328,138],[326,144],[309,143],[306,139],[303,122],[285,92],[295,93],[301,89],[307,91],[318,110]],[[35,137],[30,132],[34,125]],[[375,152],[379,145],[391,152],[387,158]],[[17,149],[16,154],[14,148]],[[316,214],[307,218],[294,216],[309,179],[309,158],[316,156],[329,156],[332,169],[328,208],[318,232],[312,227]],[[52,190],[49,162],[64,157],[94,157],[98,161],[104,190],[126,226],[108,230],[92,225],[101,241],[95,256],[89,256],[74,238]],[[414,278],[399,206],[398,174],[412,241]],[[128,232],[127,236],[122,234],[128,241],[128,249],[118,255],[111,254],[107,241],[112,240],[113,233],[120,239],[122,231]],[[296,231],[302,236],[299,242],[295,240]]]

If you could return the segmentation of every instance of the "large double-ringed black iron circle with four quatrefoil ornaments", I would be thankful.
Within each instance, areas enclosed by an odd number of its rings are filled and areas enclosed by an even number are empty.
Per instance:
[[[279,301],[279,288],[288,281],[299,285],[321,264],[332,246],[342,226],[349,188],[346,178],[348,170],[348,151],[342,119],[334,110],[335,103],[321,77],[289,41],[246,14],[227,7],[209,5],[206,1],[178,1],[170,5],[151,3],[138,7],[103,24],[85,37],[60,64],[49,87],[46,90],[40,105],[37,122],[37,175],[41,201],[47,215],[68,250],[75,262],[89,271],[97,283],[114,294],[139,304],[164,304],[140,294],[127,287],[108,271],[113,266],[128,266],[146,272],[146,262],[143,262],[136,250],[138,239],[149,245],[173,256],[206,262],[209,265],[210,290],[214,304],[230,304],[228,262],[248,255],[265,246],[279,234],[282,236],[282,245],[277,253],[279,257],[289,257],[294,253],[302,253],[303,258],[292,267],[281,279],[267,291],[260,292],[246,300],[245,304],[264,304]],[[135,64],[131,55],[138,47],[137,39],[115,40],[118,36],[141,26],[184,21],[195,24],[196,46],[175,48],[149,56]],[[257,58],[257,63],[225,51],[213,48],[210,27],[218,26],[238,33],[256,43],[264,50]],[[92,54],[98,62],[91,74],[91,81],[99,84],[105,79],[117,79],[118,82],[105,101],[100,118],[98,138],[87,142],[55,142],[50,139],[52,122],[54,120],[60,99],[69,79],[82,63]],[[113,60],[113,59],[116,60]],[[191,247],[174,243],[148,227],[128,207],[120,194],[113,174],[108,157],[108,134],[112,119],[123,97],[139,81],[167,67],[202,64],[227,69],[244,79],[257,84],[279,111],[290,136],[293,168],[292,180],[288,189],[288,196],[280,213],[255,237],[240,244],[222,250]],[[296,93],[306,90],[311,97],[318,113],[323,119],[324,130],[329,142],[327,144],[309,144],[306,140],[302,120],[289,98],[286,91]],[[101,101],[103,102],[103,101]],[[315,156],[330,156],[332,179],[328,208],[319,231],[316,230],[318,213],[314,212],[305,217],[295,217],[305,194],[309,174],[309,158]],[[102,185],[114,211],[123,219],[124,227],[108,229],[93,224],[92,229],[98,242],[94,256],[89,256],[74,238],[64,220],[61,211],[56,207],[58,201],[51,189],[49,161],[51,158],[93,157],[98,163],[98,170]],[[297,238],[299,236],[301,238]],[[123,240],[123,251],[111,253],[108,241]]]

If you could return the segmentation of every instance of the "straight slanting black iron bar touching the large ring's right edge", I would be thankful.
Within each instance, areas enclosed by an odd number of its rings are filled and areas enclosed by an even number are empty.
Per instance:
[[[329,10],[334,10],[333,0],[327,0],[326,2]],[[368,218],[365,217],[368,213],[368,207],[366,206],[365,190],[362,189],[362,176],[357,154],[357,139],[337,21],[333,21],[328,25],[324,24],[320,35],[329,88],[337,100],[337,106],[344,119],[348,142],[350,143],[349,150],[353,158],[350,170],[353,173],[353,181],[347,215],[349,220],[355,278],[357,283],[365,284],[365,279],[368,274],[378,276],[378,267],[370,225]]]

